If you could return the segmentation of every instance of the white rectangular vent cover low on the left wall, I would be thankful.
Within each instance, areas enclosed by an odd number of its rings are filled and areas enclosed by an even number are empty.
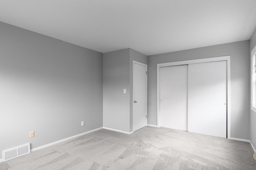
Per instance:
[[[3,161],[30,153],[30,143],[3,151]]]

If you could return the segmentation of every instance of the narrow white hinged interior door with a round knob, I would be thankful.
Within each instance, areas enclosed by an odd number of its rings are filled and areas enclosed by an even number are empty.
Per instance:
[[[133,131],[148,124],[147,122],[147,65],[133,63]]]

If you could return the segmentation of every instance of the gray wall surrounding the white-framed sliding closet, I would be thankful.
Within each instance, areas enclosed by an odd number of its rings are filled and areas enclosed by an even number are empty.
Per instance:
[[[148,124],[157,124],[156,64],[227,55],[231,57],[231,137],[249,139],[249,41],[148,56]]]

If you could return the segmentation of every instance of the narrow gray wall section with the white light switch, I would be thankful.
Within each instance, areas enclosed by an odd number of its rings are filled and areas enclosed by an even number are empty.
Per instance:
[[[130,131],[129,53],[123,49],[103,54],[103,126],[126,132]]]

